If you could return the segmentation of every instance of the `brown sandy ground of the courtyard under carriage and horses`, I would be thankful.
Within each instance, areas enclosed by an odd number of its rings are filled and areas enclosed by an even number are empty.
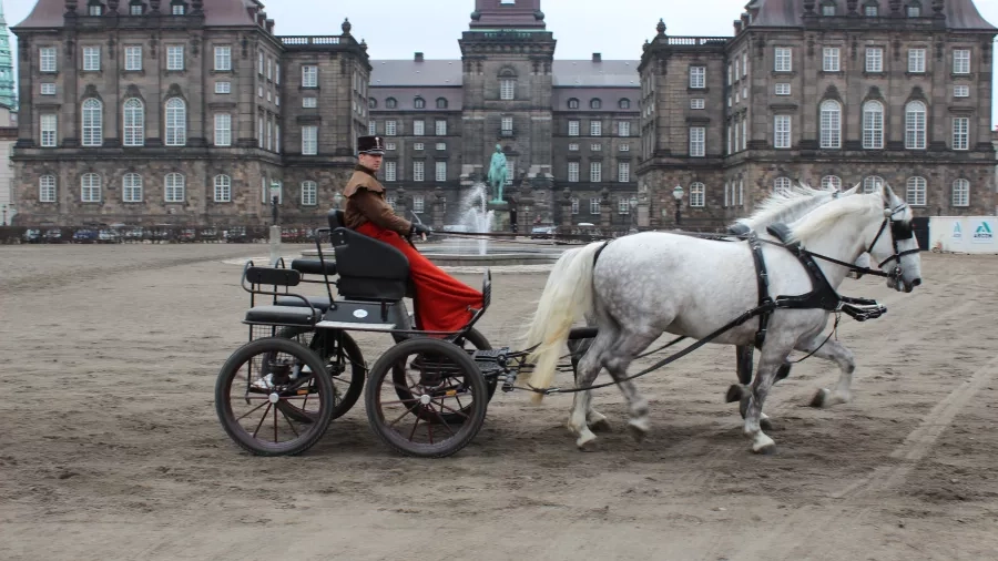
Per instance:
[[[775,387],[776,456],[748,451],[723,404],[733,349],[707,346],[639,381],[640,447],[614,388],[595,396],[614,427],[592,452],[563,427],[569,396],[500,392],[468,448],[414,460],[363,400],[302,457],[227,439],[213,385],[246,335],[237,263],[263,255],[0,247],[0,559],[998,558],[995,256],[924,255],[910,295],[846,280],[889,313],[843,319],[853,402],[805,406],[838,376],[816,359]],[[495,272],[493,344],[516,340],[544,279]],[[389,343],[358,340],[368,360]]]

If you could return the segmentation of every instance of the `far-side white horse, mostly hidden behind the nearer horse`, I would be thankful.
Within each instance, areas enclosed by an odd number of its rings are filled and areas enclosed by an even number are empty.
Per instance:
[[[788,190],[774,192],[768,198],[756,206],[755,212],[747,217],[735,221],[729,232],[734,235],[744,236],[748,232],[756,234],[765,234],[768,225],[774,223],[791,222],[807,214],[814,208],[835,198],[849,196],[855,194],[859,188],[857,183],[853,188],[847,191],[814,188],[806,183],[791,186]],[[730,239],[735,239],[730,237]],[[863,254],[856,261],[857,267],[866,268],[869,265],[867,254]],[[590,315],[585,316],[587,326],[595,327],[594,320]],[[578,368],[579,358],[585,354],[593,339],[572,339],[568,341],[569,351],[572,357],[572,364]],[[739,345],[735,347],[735,365],[739,384],[729,387],[725,399],[729,402],[740,401],[740,411],[742,417],[745,416],[745,407],[748,400],[747,385],[752,381],[753,369],[753,346]],[[776,381],[786,378],[790,375],[790,364],[783,365],[776,374]],[[609,428],[607,417],[591,407],[585,415],[587,424],[591,430],[601,430]],[[760,419],[764,429],[770,429],[768,417],[763,414]]]

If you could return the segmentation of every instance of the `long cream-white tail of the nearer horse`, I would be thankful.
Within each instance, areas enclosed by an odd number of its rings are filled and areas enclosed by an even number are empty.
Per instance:
[[[534,388],[551,386],[572,323],[592,309],[592,268],[604,245],[605,242],[594,242],[564,252],[548,276],[533,322],[527,329],[527,347],[537,346],[528,356],[534,364],[530,374],[530,385]],[[543,394],[533,395],[534,404],[542,399]]]

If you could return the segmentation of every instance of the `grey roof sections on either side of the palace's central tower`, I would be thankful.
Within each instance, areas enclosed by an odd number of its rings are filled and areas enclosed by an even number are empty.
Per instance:
[[[637,60],[556,60],[551,67],[553,85],[579,88],[638,88]],[[460,60],[373,60],[370,85],[429,86],[461,85]]]

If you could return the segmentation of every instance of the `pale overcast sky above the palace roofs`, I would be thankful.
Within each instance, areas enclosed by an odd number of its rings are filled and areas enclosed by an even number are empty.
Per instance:
[[[0,0],[9,26],[21,22],[35,0]],[[122,0],[126,3],[128,0]],[[210,1],[210,0],[207,0]],[[85,0],[81,0],[84,4]],[[163,4],[169,4],[163,0]],[[641,44],[662,18],[671,35],[731,35],[732,22],[747,0],[542,0],[558,59],[640,59]],[[468,29],[475,0],[271,0],[267,17],[282,35],[340,33],[344,18],[357,39],[367,40],[373,59],[459,59],[458,39]],[[981,16],[998,26],[998,0],[976,0]],[[11,35],[13,35],[11,33]],[[17,52],[17,38],[11,37]],[[998,73],[995,73],[998,78]],[[998,88],[991,89],[998,106]],[[998,125],[998,113],[991,122]]]

